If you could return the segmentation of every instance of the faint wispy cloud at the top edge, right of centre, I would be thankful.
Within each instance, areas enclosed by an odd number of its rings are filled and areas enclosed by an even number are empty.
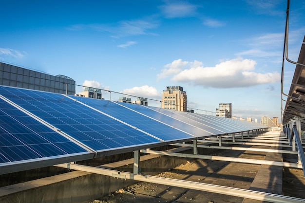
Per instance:
[[[194,16],[197,6],[189,2],[166,3],[159,7],[166,18],[183,18]]]

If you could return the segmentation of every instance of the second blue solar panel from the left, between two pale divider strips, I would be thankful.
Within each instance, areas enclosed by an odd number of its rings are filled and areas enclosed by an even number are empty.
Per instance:
[[[97,152],[162,143],[62,94],[3,86],[0,93]]]

